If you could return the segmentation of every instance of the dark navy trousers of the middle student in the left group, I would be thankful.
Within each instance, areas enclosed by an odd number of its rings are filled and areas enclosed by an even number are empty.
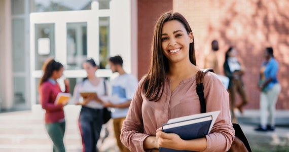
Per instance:
[[[102,126],[102,109],[82,106],[79,116],[79,129],[82,137],[84,152],[98,151],[97,140]]]

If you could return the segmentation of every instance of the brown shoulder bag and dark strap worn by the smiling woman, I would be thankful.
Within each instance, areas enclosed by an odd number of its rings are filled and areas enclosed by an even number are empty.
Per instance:
[[[206,102],[204,97],[204,86],[203,86],[203,79],[207,72],[214,72],[213,69],[202,69],[197,72],[196,75],[196,84],[197,84],[197,94],[200,99],[201,104],[201,112],[206,112]],[[235,152],[235,151],[248,151],[251,152],[252,149],[250,147],[250,144],[248,142],[248,139],[246,138],[244,132],[242,131],[239,124],[233,123],[233,128],[235,130],[235,138],[232,142],[232,145],[229,149],[229,151]]]

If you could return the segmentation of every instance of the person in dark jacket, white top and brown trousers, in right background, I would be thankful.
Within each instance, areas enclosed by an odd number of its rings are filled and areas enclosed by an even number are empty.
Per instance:
[[[236,57],[236,49],[230,47],[226,52],[225,63],[224,63],[225,75],[229,77],[229,96],[230,96],[230,109],[232,115],[232,121],[236,122],[234,115],[234,108],[238,108],[241,113],[243,113],[243,106],[248,103],[247,95],[244,90],[244,84],[242,81],[242,76],[244,74],[244,67],[241,66],[240,62]],[[236,93],[241,96],[241,103],[235,106]]]

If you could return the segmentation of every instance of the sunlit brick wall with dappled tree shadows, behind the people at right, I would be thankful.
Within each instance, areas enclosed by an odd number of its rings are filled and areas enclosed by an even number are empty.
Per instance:
[[[199,67],[203,67],[203,59],[210,50],[212,40],[219,41],[218,57],[222,70],[225,51],[231,45],[236,47],[246,67],[243,80],[249,104],[245,108],[251,109],[259,108],[260,92],[256,86],[264,59],[263,50],[268,46],[273,47],[280,66],[277,77],[282,91],[277,108],[289,109],[288,8],[289,1],[286,0],[173,1],[173,10],[182,13],[193,29]],[[143,63],[146,62],[139,64]]]

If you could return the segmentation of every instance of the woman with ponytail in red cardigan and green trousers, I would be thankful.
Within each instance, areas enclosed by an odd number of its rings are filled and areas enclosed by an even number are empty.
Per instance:
[[[63,137],[65,132],[65,119],[63,107],[54,104],[57,94],[62,92],[57,79],[62,77],[63,65],[54,59],[47,60],[42,67],[43,77],[39,83],[40,103],[45,112],[45,127],[53,142],[53,151],[65,151]],[[69,92],[68,80],[64,81],[65,92]]]

